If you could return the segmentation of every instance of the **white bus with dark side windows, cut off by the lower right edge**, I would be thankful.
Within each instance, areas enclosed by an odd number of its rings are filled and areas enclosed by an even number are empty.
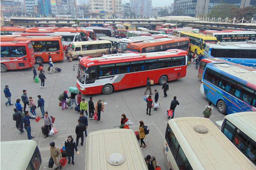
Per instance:
[[[256,112],[240,112],[225,116],[221,131],[256,165]]]

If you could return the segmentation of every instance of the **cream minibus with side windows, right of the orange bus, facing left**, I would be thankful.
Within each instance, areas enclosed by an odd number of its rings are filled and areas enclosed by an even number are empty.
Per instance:
[[[70,44],[72,58],[85,56],[100,57],[112,51],[112,43],[107,40],[81,41]]]

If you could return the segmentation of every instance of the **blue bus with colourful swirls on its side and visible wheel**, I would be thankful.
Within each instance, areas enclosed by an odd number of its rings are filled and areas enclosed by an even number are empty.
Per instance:
[[[228,63],[208,63],[201,93],[222,114],[256,111],[256,69]]]

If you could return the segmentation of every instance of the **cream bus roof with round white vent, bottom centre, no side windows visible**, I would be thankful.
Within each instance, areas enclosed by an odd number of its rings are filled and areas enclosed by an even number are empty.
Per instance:
[[[147,170],[131,129],[91,132],[86,142],[86,170]]]

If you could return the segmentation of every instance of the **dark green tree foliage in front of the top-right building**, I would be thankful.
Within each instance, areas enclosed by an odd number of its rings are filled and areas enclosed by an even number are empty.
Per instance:
[[[212,8],[211,12],[208,14],[208,17],[222,17],[222,18],[234,18],[238,20],[244,19],[250,20],[256,15],[256,7],[245,7],[239,8],[230,4],[221,4]]]

